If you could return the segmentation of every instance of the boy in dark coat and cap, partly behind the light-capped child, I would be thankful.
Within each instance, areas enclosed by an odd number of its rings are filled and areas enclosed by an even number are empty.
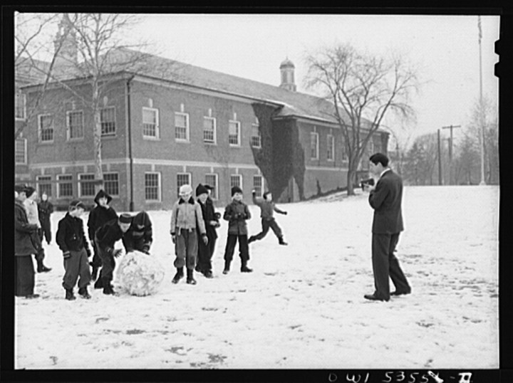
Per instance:
[[[217,239],[216,228],[219,227],[219,214],[216,216],[214,203],[209,197],[207,185],[199,184],[196,188],[196,196],[198,204],[202,209],[204,226],[207,230],[208,238],[208,243],[205,244],[202,238],[198,237],[196,271],[202,273],[206,278],[212,278],[212,256],[214,255],[215,242]]]

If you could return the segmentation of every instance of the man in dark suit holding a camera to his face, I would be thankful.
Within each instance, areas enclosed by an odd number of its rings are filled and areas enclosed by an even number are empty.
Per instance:
[[[388,157],[375,153],[369,159],[370,170],[378,182],[367,184],[365,189],[370,192],[369,204],[374,209],[372,262],[375,291],[364,295],[369,300],[389,300],[390,295],[411,293],[408,280],[394,256],[399,234],[403,231],[403,215],[401,199],[403,198],[403,180],[388,167]],[[395,291],[390,293],[388,278],[392,278]]]

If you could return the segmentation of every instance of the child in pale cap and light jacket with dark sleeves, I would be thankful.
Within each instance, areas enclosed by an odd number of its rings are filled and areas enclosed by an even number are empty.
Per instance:
[[[192,198],[192,187],[182,185],[180,187],[180,199],[172,207],[171,214],[171,240],[175,243],[175,268],[177,273],[172,283],[178,283],[183,278],[184,265],[187,267],[187,283],[196,284],[193,276],[196,266],[198,240],[196,228],[203,243],[208,243],[207,231],[205,230],[202,209]]]

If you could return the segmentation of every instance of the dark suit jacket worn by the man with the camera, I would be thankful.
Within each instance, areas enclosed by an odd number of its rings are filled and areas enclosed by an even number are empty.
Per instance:
[[[401,199],[403,180],[398,174],[388,170],[369,194],[369,204],[374,209],[374,234],[397,234],[404,230]]]

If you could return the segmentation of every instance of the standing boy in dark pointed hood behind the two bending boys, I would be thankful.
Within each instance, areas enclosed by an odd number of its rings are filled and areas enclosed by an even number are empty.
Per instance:
[[[96,277],[98,276],[98,269],[102,265],[100,255],[96,251],[96,246],[94,243],[95,232],[103,224],[118,218],[118,214],[116,214],[115,210],[108,206],[110,201],[112,201],[112,197],[108,195],[103,189],[100,190],[100,192],[98,192],[98,194],[95,196],[96,206],[89,213],[88,234],[94,251],[93,261],[90,263],[90,265],[93,266],[91,280],[96,280]]]

